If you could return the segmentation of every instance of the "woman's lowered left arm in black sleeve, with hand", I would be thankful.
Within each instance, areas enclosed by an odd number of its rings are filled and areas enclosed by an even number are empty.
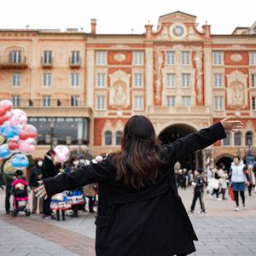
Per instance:
[[[64,190],[78,189],[90,183],[108,180],[112,176],[110,168],[108,160],[83,166],[73,172],[44,179],[42,185],[35,189],[35,192],[40,197],[51,196]]]

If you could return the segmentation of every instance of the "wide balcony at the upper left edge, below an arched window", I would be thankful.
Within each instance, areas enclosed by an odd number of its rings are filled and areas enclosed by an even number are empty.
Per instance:
[[[0,56],[0,68],[4,69],[23,69],[28,67],[26,56],[19,55],[16,58],[12,58],[10,55]]]

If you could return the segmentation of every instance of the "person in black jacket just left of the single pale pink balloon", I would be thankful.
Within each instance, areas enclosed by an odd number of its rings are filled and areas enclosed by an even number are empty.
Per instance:
[[[58,174],[59,171],[54,164],[54,159],[55,159],[55,151],[53,149],[50,149],[44,155],[44,161],[42,166],[42,179],[55,177]],[[45,219],[55,218],[54,215],[52,214],[52,211],[50,210],[50,201],[51,201],[51,196],[44,198],[44,201],[43,201],[43,218]]]

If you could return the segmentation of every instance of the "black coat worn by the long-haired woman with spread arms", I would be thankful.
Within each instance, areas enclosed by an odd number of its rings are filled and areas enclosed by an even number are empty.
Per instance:
[[[161,145],[166,163],[154,185],[134,189],[116,179],[108,158],[44,180],[48,195],[90,183],[99,184],[96,218],[97,256],[171,256],[195,252],[195,231],[183,207],[174,177],[177,160],[225,137],[218,123]]]

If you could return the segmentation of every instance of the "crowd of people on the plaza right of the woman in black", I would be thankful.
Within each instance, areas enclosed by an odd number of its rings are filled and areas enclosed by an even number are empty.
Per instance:
[[[177,163],[175,168],[177,188],[186,189],[191,186],[194,187],[189,213],[194,213],[195,203],[198,199],[201,205],[201,214],[206,213],[203,201],[205,189],[209,197],[216,198],[217,201],[227,200],[227,193],[229,193],[231,200],[236,203],[236,212],[241,210],[239,195],[242,208],[246,210],[246,189],[248,196],[252,196],[253,189],[256,193],[256,165],[244,164],[244,161],[239,156],[234,157],[230,166],[220,164],[212,170],[208,168],[207,172],[203,172],[200,168],[193,172],[192,170],[179,169],[179,166],[180,164]]]

